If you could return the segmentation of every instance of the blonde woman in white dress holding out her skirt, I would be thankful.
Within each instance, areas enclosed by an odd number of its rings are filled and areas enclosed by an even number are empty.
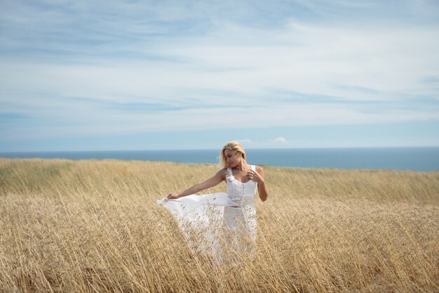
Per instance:
[[[226,143],[219,157],[224,169],[215,176],[180,193],[169,193],[157,204],[162,204],[175,216],[191,247],[223,263],[234,259],[231,252],[238,256],[253,255],[256,190],[263,202],[268,193],[264,169],[247,163],[241,143]],[[222,181],[226,183],[227,193],[195,194]]]

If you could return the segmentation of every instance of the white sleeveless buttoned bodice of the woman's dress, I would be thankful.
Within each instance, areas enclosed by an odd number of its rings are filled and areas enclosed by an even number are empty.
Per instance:
[[[256,171],[255,165],[251,165],[251,169]],[[229,195],[229,198],[234,202],[243,206],[255,204],[256,181],[250,180],[245,183],[238,181],[231,171],[231,168],[227,168],[226,188],[227,195]]]

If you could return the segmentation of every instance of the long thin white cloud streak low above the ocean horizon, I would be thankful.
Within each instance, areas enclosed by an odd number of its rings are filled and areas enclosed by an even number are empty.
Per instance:
[[[233,129],[239,117],[241,128],[266,129],[288,126],[360,125],[389,122],[424,121],[439,119],[439,112],[412,110],[382,110],[375,114],[367,109],[345,109],[339,105],[277,105],[266,108],[189,108],[163,110],[152,113],[120,111],[88,107],[86,104],[65,108],[39,108],[29,112],[22,122],[7,131],[8,138],[54,138],[72,135],[128,134],[154,131],[185,131],[187,129]],[[273,113],[275,115],[273,115]],[[33,119],[32,119],[33,118]],[[36,123],[33,123],[33,122]],[[266,123],[269,121],[270,123]],[[29,127],[32,124],[32,127]],[[3,132],[3,131],[2,131]]]

